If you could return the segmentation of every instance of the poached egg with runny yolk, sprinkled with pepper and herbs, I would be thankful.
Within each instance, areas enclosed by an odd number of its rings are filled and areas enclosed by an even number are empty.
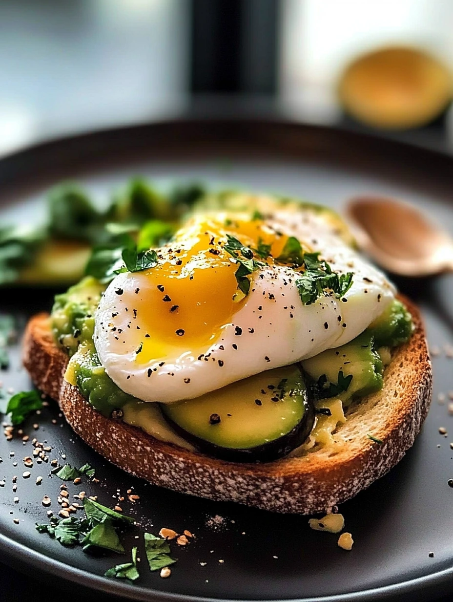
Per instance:
[[[269,199],[263,206],[266,214],[192,217],[157,250],[155,267],[109,284],[94,345],[125,393],[161,403],[199,397],[348,343],[393,301],[392,284],[347,244],[328,213]],[[325,290],[302,302],[303,267],[280,260],[291,237],[333,272],[353,273],[344,295]],[[248,291],[236,275],[238,259],[247,257],[228,250],[232,240],[247,256],[253,250]]]

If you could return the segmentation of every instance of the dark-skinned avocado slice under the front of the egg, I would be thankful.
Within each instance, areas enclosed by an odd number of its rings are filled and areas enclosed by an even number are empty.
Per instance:
[[[315,420],[296,365],[276,368],[197,399],[161,404],[200,451],[232,462],[268,462],[303,444]]]

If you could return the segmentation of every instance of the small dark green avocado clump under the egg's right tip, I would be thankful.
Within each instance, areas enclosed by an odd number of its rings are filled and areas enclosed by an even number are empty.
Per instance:
[[[408,341],[414,331],[411,314],[404,303],[395,299],[374,322],[367,332],[374,337],[376,347],[396,347]]]

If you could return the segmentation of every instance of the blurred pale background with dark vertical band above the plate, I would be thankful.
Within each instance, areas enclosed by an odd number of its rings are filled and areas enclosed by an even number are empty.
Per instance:
[[[191,112],[453,150],[451,0],[0,0],[0,155]]]

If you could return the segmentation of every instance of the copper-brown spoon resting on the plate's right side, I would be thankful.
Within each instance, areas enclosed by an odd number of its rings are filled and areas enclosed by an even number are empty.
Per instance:
[[[453,239],[413,206],[362,196],[346,208],[359,246],[389,272],[430,276],[453,271]]]

